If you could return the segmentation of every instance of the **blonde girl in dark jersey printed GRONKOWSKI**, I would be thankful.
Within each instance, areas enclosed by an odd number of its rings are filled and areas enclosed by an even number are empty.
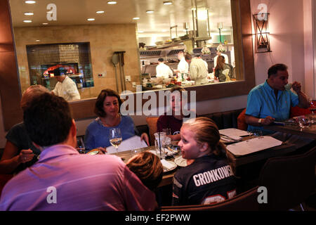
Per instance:
[[[218,203],[236,195],[236,181],[216,124],[207,117],[183,123],[178,146],[187,160],[173,178],[173,205]]]

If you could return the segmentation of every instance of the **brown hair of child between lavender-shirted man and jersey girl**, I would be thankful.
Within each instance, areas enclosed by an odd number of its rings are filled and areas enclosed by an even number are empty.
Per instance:
[[[157,155],[144,151],[131,158],[126,165],[151,191],[162,181],[164,169]]]

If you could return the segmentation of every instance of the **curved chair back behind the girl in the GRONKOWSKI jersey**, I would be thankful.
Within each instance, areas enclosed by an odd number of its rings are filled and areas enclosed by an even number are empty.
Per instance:
[[[258,186],[220,203],[164,206],[161,211],[258,211]]]

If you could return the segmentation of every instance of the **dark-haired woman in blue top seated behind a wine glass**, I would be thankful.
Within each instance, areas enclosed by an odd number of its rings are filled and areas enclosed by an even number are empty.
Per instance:
[[[86,150],[98,148],[105,153],[105,148],[111,146],[109,139],[111,128],[121,129],[123,141],[138,135],[138,131],[131,117],[119,113],[121,103],[121,98],[119,98],[117,92],[111,89],[101,91],[94,109],[98,118],[88,125],[84,136]],[[140,139],[145,140],[147,144],[149,143],[148,136],[145,133],[140,136]]]

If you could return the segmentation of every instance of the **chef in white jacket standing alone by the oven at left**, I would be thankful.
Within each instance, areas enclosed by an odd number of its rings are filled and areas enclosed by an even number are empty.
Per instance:
[[[58,81],[55,89],[53,89],[53,93],[56,96],[65,98],[66,101],[80,100],[80,94],[77,89],[77,85],[70,77],[65,75],[64,70],[61,68],[55,69],[54,76]]]

